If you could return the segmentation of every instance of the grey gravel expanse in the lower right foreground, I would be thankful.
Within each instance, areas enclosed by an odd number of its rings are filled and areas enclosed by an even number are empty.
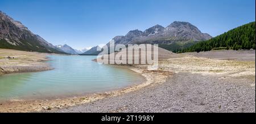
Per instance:
[[[180,72],[162,84],[55,112],[255,113],[255,80]]]

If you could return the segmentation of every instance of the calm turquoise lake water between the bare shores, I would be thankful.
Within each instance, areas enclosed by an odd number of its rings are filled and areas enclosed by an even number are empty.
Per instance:
[[[50,55],[54,70],[0,76],[0,100],[57,99],[142,82],[141,75],[91,61],[97,56]]]

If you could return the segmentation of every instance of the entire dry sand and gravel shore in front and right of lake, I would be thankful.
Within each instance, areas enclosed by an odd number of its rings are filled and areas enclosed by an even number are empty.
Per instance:
[[[243,54],[255,57],[255,50]],[[67,99],[1,102],[0,112],[255,112],[255,61],[247,59],[175,55],[160,60],[157,71],[124,66],[147,79],[138,85]]]

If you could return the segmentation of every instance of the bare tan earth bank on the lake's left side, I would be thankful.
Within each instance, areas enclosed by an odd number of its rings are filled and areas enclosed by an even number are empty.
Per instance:
[[[51,70],[52,68],[47,63],[44,63],[48,60],[46,55],[49,54],[0,49],[0,75]],[[8,56],[11,58],[7,58]]]

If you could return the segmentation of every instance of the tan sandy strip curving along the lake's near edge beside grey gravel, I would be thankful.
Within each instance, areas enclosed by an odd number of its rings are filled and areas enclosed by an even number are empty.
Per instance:
[[[125,66],[123,66],[125,67]],[[163,83],[166,79],[172,74],[172,72],[167,71],[145,71],[139,69],[131,69],[126,66],[127,69],[138,72],[145,79],[145,82],[140,84],[132,85],[130,87],[118,89],[115,91],[109,91],[105,93],[94,93],[92,95],[86,96],[77,96],[77,97],[69,97],[65,99],[53,99],[53,100],[19,100],[19,101],[6,101],[0,102],[0,113],[3,112],[47,112],[49,110],[59,110],[67,107],[77,106],[86,104],[89,102],[106,99],[109,97],[115,97],[119,95],[123,95],[129,92],[137,91],[148,85],[156,85],[159,83]],[[152,78],[154,75],[154,78]]]

